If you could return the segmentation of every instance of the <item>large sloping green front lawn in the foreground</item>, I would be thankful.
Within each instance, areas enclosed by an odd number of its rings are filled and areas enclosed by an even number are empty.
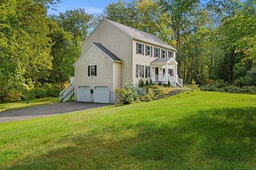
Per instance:
[[[256,95],[168,99],[0,124],[0,169],[254,169]]]

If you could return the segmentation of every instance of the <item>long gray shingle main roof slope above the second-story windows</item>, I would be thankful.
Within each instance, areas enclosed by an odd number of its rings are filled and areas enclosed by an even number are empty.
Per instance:
[[[148,43],[151,43],[151,44],[155,44],[155,45],[158,45],[158,46],[165,47],[165,48],[170,49],[170,50],[177,51],[175,48],[166,44],[161,39],[155,37],[152,34],[145,33],[145,32],[140,31],[138,29],[131,28],[131,27],[122,25],[121,23],[117,23],[117,22],[114,22],[114,21],[111,21],[111,20],[108,20],[108,19],[104,19],[104,20],[111,23],[112,25],[116,26],[117,28],[123,30],[126,34],[130,35],[133,39],[138,39],[140,41],[148,42]]]

